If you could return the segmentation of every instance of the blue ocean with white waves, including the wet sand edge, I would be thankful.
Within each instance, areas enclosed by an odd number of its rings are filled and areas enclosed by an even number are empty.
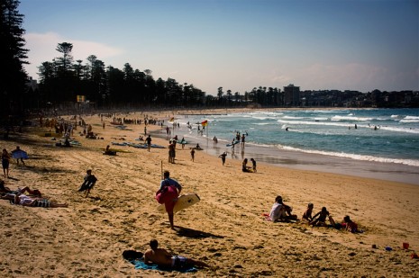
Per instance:
[[[201,134],[197,123],[205,120]],[[173,135],[200,142],[214,155],[228,151],[237,159],[419,184],[419,109],[227,110],[176,121],[181,127]],[[236,145],[233,153],[225,145],[237,131],[248,135],[245,148]]]

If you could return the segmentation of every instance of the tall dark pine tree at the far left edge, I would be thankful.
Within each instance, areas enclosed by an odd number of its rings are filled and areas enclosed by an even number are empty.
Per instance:
[[[4,68],[0,75],[0,103],[2,119],[8,114],[20,113],[23,110],[23,97],[27,80],[23,64],[28,49],[24,49],[23,14],[17,8],[19,0],[1,0],[0,19],[0,60]]]

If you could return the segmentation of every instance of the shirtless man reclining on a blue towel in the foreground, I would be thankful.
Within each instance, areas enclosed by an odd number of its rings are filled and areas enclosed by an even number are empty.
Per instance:
[[[182,269],[190,266],[209,267],[205,262],[185,256],[172,256],[166,249],[159,248],[157,239],[150,240],[150,249],[144,253],[145,264],[156,264],[173,269]]]

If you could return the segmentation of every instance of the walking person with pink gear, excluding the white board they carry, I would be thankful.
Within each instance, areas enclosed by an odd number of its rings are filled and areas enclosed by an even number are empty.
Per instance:
[[[170,172],[168,170],[164,171],[163,180],[160,182],[160,188],[156,193],[155,198],[157,202],[164,203],[169,216],[170,228],[175,229],[173,224],[173,208],[178,201],[178,196],[182,191],[182,186],[178,183],[178,181],[170,178],[169,176]]]

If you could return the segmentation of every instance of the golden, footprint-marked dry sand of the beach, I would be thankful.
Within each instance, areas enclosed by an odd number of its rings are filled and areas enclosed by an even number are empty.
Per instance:
[[[172,112],[148,112],[168,119]],[[129,114],[120,117],[139,118]],[[112,146],[112,141],[135,142],[144,125],[116,129],[97,115],[84,116],[103,139],[74,138],[81,146],[54,147],[30,127],[11,134],[1,147],[20,146],[30,159],[26,166],[12,160],[6,186],[30,186],[68,208],[44,209],[0,201],[2,277],[208,277],[208,276],[351,276],[417,277],[419,260],[419,186],[350,175],[294,170],[259,163],[257,173],[242,173],[241,161],[177,146],[176,163],[168,163],[168,148]],[[148,130],[159,130],[150,125]],[[119,140],[125,139],[125,140]],[[152,136],[152,143],[168,140]],[[106,145],[122,150],[104,156]],[[175,215],[175,230],[166,214],[159,213],[154,194],[163,169],[183,185],[182,193],[197,193],[201,202]],[[77,189],[87,169],[98,181],[90,195]],[[312,228],[301,222],[273,223],[269,213],[275,197],[282,195],[301,219],[308,202],[314,212],[323,206],[334,220],[345,215],[363,233]],[[144,252],[150,239],[173,254],[205,261],[211,269],[195,274],[135,270],[123,259],[126,249]],[[402,248],[408,242],[409,249]],[[372,248],[376,245],[377,248]],[[385,247],[391,247],[386,251]]]

